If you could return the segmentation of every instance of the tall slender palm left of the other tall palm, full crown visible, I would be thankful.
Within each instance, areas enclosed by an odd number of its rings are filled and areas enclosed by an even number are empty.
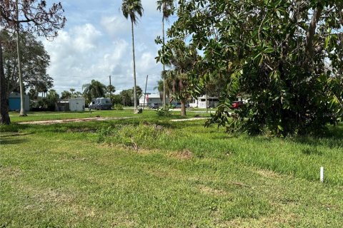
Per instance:
[[[136,60],[134,57],[134,25],[138,23],[138,16],[143,16],[143,6],[141,0],[123,0],[121,11],[126,19],[131,20],[131,35],[132,35],[132,58],[134,60],[134,113],[137,110],[137,93],[136,93]]]

